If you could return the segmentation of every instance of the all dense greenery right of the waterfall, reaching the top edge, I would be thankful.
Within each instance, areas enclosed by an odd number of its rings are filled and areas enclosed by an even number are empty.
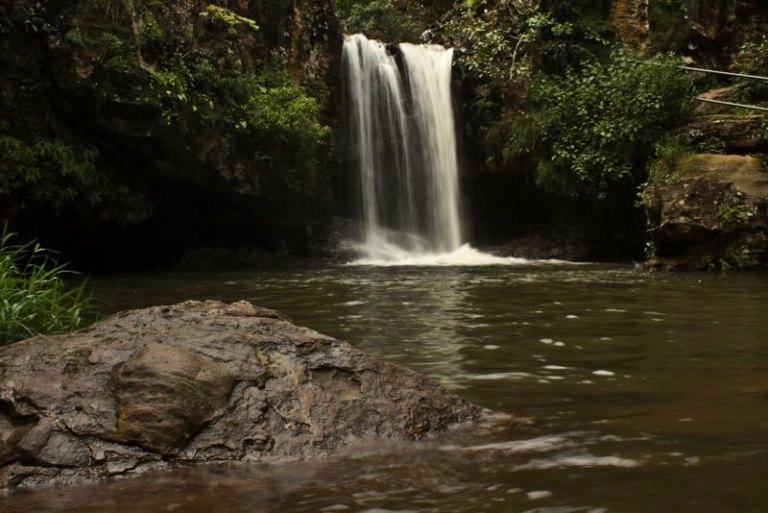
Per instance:
[[[527,157],[536,183],[560,196],[642,184],[648,148],[691,105],[675,60],[622,50],[594,2],[466,2],[447,30],[469,46],[487,164]]]

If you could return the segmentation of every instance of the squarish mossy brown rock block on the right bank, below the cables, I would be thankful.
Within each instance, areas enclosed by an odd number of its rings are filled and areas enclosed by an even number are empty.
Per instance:
[[[747,269],[768,263],[768,173],[739,155],[694,155],[646,191],[648,265]]]

